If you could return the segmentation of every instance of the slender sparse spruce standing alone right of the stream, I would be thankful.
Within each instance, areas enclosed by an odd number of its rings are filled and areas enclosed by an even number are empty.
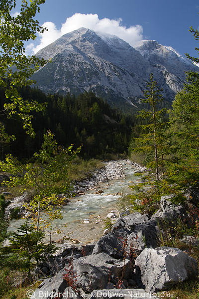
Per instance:
[[[166,147],[164,132],[167,126],[164,117],[167,111],[165,108],[158,110],[158,103],[163,98],[157,82],[153,79],[153,74],[150,76],[150,82],[147,84],[147,87],[148,89],[144,91],[145,98],[142,101],[149,108],[148,110],[143,109],[138,115],[138,117],[144,119],[146,124],[138,126],[141,133],[139,137],[133,138],[131,145],[133,151],[146,154],[145,162],[150,170],[147,174],[141,173],[142,181],[140,183],[130,186],[136,192],[133,192],[129,198],[134,209],[139,211],[147,209],[148,212],[153,213],[161,197],[159,186],[160,172],[163,172],[164,168],[163,155]]]

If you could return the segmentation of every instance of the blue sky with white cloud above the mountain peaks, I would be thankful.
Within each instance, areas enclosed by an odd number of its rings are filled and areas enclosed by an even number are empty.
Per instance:
[[[16,11],[20,2],[17,0]],[[36,52],[83,26],[118,34],[131,45],[140,39],[155,39],[181,54],[197,56],[198,42],[188,30],[191,25],[199,28],[199,0],[46,0],[40,7],[37,19],[49,31],[29,42],[28,51]]]

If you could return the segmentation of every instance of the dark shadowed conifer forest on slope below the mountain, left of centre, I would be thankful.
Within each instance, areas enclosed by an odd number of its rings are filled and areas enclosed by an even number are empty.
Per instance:
[[[138,122],[135,116],[125,116],[115,111],[92,92],[84,92],[78,97],[67,94],[44,94],[39,89],[20,89],[24,99],[46,103],[42,112],[33,113],[32,126],[35,138],[25,134],[22,121],[15,116],[11,119],[0,116],[6,132],[16,139],[1,145],[1,159],[11,152],[19,158],[30,158],[42,142],[43,134],[50,130],[59,145],[67,147],[82,145],[80,155],[86,158],[104,156],[106,153],[128,151],[132,128]],[[4,90],[0,90],[0,107],[5,103]]]

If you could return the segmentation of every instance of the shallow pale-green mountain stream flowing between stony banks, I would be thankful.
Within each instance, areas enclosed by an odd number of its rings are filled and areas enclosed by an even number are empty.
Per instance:
[[[139,165],[130,160],[111,161],[118,163],[122,169],[119,179],[101,180],[94,188],[85,191],[84,195],[72,198],[62,207],[63,219],[52,223],[51,240],[56,243],[90,243],[97,241],[104,231],[104,219],[110,211],[117,212],[118,198],[124,193],[129,193],[129,185],[138,182],[139,177],[134,173],[139,171]],[[107,162],[110,163],[111,162]],[[112,169],[114,171],[114,168]],[[116,176],[117,178],[118,176]],[[98,193],[98,194],[96,194]],[[15,231],[24,220],[12,221],[10,231]],[[57,233],[57,229],[60,233]],[[64,241],[67,240],[67,241]],[[49,233],[46,233],[46,241]]]

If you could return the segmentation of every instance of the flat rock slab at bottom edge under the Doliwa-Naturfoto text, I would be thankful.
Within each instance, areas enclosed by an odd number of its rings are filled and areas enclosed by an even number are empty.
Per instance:
[[[143,289],[108,289],[108,290],[95,290],[91,293],[90,299],[104,299],[104,298],[110,298],[110,299],[156,299],[157,297],[151,297],[151,294],[146,293]]]

